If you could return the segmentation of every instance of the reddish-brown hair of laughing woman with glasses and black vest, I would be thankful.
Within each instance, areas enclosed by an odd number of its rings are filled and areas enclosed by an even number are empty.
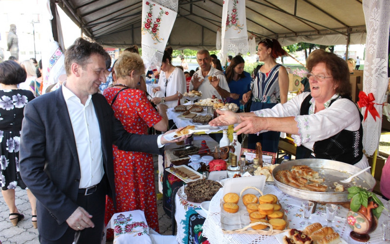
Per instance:
[[[325,63],[328,72],[333,77],[333,82],[337,86],[335,92],[344,97],[351,97],[350,70],[347,62],[333,53],[316,52],[311,54],[310,60],[307,61],[309,72],[318,63]]]

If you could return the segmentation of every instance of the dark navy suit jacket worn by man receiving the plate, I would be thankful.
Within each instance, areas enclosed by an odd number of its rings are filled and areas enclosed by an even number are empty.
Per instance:
[[[115,194],[112,144],[125,151],[161,153],[157,136],[127,133],[101,94],[92,102],[98,118],[104,171]],[[20,174],[37,198],[39,234],[57,240],[68,227],[66,219],[78,205],[80,166],[78,152],[62,89],[29,102],[24,108],[20,136]],[[115,197],[113,197],[115,201]],[[97,223],[95,223],[97,224]]]

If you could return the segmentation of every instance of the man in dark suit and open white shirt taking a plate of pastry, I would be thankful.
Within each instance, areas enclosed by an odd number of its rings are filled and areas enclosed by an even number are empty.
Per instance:
[[[161,153],[167,143],[129,134],[115,118],[97,93],[106,81],[104,56],[98,43],[77,39],[65,53],[67,81],[24,109],[20,174],[38,200],[42,244],[100,243],[105,196],[115,199],[112,144]]]

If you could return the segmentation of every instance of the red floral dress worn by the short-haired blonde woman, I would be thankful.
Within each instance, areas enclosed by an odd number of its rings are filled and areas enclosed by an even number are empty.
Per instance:
[[[104,90],[103,95],[108,103],[111,104],[120,89],[110,87]],[[141,90],[121,91],[112,108],[115,117],[130,133],[148,134],[148,128],[162,120]],[[122,151],[113,145],[113,156],[117,208],[114,208],[112,199],[107,197],[105,224],[114,213],[140,209],[145,212],[149,227],[159,232],[152,154]],[[107,233],[107,237],[110,234]]]

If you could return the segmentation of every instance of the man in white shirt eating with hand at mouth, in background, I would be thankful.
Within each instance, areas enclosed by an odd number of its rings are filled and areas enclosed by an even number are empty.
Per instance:
[[[200,91],[200,99],[207,99],[215,95],[218,99],[226,99],[230,96],[230,89],[225,75],[222,71],[211,66],[211,57],[209,51],[202,49],[196,53],[196,61],[199,64],[199,70],[196,71],[191,79],[190,91]],[[211,77],[211,81],[209,79]]]

